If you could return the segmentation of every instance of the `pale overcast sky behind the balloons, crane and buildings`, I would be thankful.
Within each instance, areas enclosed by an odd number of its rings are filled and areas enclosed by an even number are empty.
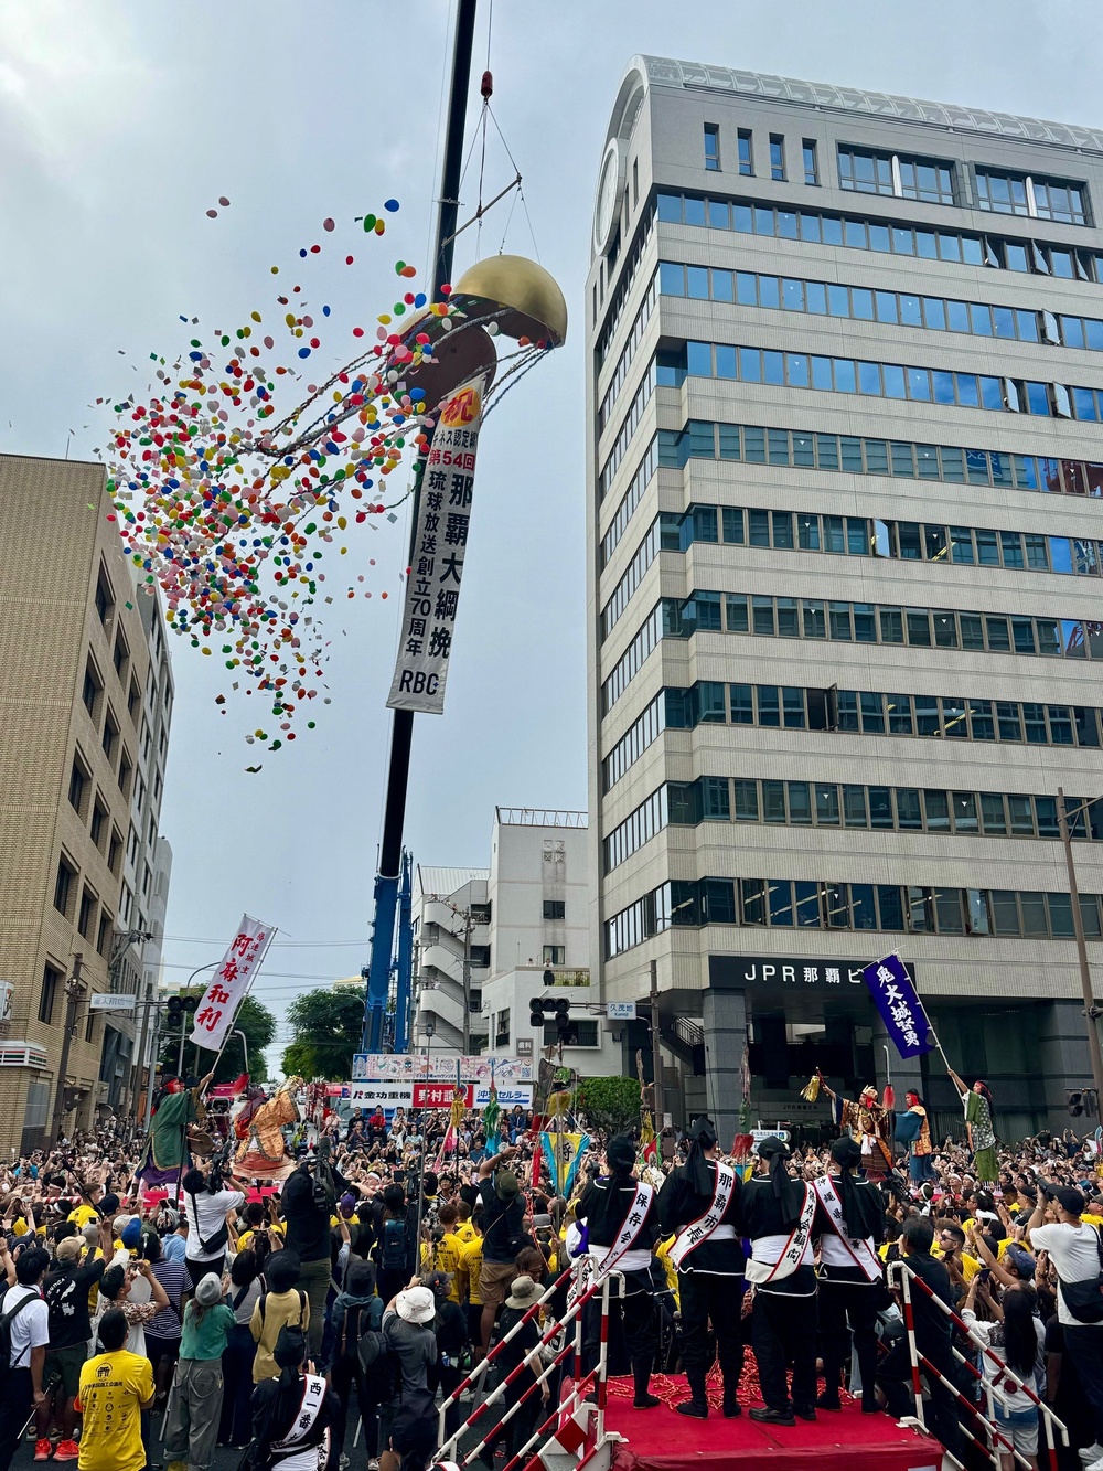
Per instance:
[[[446,0],[4,0],[0,453],[93,459],[110,421],[90,405],[144,384],[151,352],[175,356],[181,315],[221,325],[268,307],[271,265],[325,238],[326,216],[351,228],[401,203],[385,241],[359,237],[356,271],[335,250],[313,263],[315,300],[338,319],[374,324],[399,257],[424,278],[453,12]],[[587,802],[582,284],[629,57],[1103,124],[1103,12],[1068,0],[479,0],[468,143],[488,46],[526,213],[510,199],[468,229],[453,275],[503,247],[535,254],[575,328],[487,422],[446,713],[415,727],[406,841],[422,863],[459,866],[488,862],[496,803]],[[478,165],[476,150],[460,219],[478,203]],[[512,177],[491,128],[484,199]],[[219,196],[231,204],[212,221]],[[368,961],[406,535],[399,518],[350,538],[341,571],[372,597],[326,610],[331,703],[294,747],[244,744],[254,702],[216,706],[226,684],[213,660],[169,640],[165,977],[218,959],[243,911],[266,919],[281,934],[254,994],[281,1043],[294,996]]]

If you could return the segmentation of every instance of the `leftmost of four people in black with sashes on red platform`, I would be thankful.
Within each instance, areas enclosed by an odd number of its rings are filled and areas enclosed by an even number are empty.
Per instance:
[[[610,1284],[609,1312],[624,1322],[625,1344],[635,1384],[635,1409],[654,1409],[662,1400],[650,1393],[659,1336],[654,1322],[652,1252],[659,1236],[654,1186],[637,1180],[635,1144],[627,1134],[610,1139],[604,1175],[582,1192],[575,1218],[585,1222],[587,1252],[594,1269],[624,1272],[624,1287]],[[624,1292],[618,1297],[615,1293]],[[596,1293],[582,1308],[582,1372],[597,1365],[602,1337],[602,1300]]]

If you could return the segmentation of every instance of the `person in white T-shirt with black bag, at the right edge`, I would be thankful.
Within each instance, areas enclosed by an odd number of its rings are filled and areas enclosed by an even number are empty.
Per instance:
[[[1081,1221],[1085,1202],[1075,1186],[1040,1180],[1038,1192],[1027,1236],[1031,1249],[1046,1252],[1057,1269],[1057,1322],[1096,1422],[1096,1443],[1081,1459],[1088,1471],[1103,1471],[1103,1296],[1097,1286],[1103,1247],[1099,1233]]]

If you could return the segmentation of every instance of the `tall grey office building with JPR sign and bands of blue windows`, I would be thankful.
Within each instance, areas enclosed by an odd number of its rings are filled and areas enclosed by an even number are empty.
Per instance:
[[[929,1091],[899,949],[1004,1137],[1090,1081],[1069,805],[1103,793],[1103,134],[635,57],[588,331],[591,946],[668,1097]],[[1074,819],[1103,961],[1103,806]],[[746,1047],[746,1053],[744,1053]],[[669,1105],[668,1105],[669,1106]]]

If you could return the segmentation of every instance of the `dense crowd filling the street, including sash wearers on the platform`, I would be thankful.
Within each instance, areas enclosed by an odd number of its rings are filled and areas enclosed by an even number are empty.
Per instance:
[[[915,1402],[896,1262],[943,1445],[990,1465],[991,1415],[1004,1471],[1013,1452],[1037,1465],[1040,1402],[1069,1431],[1062,1471],[1103,1471],[1094,1143],[927,1128],[909,1169],[872,1090],[827,1091],[829,1146],[769,1137],[732,1158],[707,1118],[659,1150],[593,1130],[566,1197],[534,1169],[526,1111],[490,1140],[471,1114],[288,1125],[274,1184],[197,1155],[150,1190],[143,1150],[107,1133],[16,1159],[0,1169],[0,1471],[24,1436],[79,1471],[207,1471],[218,1446],[244,1471],[424,1471],[438,1408],[453,1436],[501,1383],[466,1443],[485,1439],[493,1471],[559,1403],[544,1340],[606,1272],[609,1370],[659,1421],[746,1411],[784,1434],[847,1402],[899,1418]],[[581,1312],[590,1375],[599,1297]]]

